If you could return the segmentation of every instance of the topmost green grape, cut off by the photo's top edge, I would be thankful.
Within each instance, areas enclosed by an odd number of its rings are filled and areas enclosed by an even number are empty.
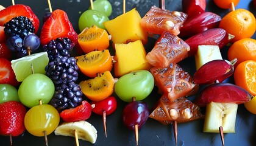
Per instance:
[[[91,9],[91,6],[89,9]],[[110,16],[112,14],[112,5],[107,0],[96,0],[93,1],[93,10],[98,10],[99,12],[104,13],[106,16]]]

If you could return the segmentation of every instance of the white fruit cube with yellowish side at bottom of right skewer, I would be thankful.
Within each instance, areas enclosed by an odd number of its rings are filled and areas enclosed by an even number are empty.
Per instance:
[[[219,127],[223,133],[235,133],[236,103],[215,103],[210,102],[206,106],[204,132],[219,133]]]

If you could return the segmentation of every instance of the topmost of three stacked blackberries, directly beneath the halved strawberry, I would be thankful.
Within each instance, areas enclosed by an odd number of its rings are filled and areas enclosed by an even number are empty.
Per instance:
[[[55,58],[70,57],[73,45],[69,38],[57,38],[45,44],[43,50],[47,51],[49,61],[54,61]]]

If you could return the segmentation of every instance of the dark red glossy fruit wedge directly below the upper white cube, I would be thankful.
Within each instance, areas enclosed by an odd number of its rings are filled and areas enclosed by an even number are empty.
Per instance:
[[[223,82],[235,70],[233,64],[236,62],[236,59],[231,62],[228,60],[212,60],[205,63],[194,73],[194,83],[202,85],[211,84],[216,81]]]

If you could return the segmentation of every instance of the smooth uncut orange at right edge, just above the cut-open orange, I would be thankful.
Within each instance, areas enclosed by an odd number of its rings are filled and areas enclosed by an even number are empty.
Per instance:
[[[246,60],[256,61],[256,40],[253,38],[244,38],[236,41],[229,47],[227,57],[229,60],[237,58],[235,67]]]

